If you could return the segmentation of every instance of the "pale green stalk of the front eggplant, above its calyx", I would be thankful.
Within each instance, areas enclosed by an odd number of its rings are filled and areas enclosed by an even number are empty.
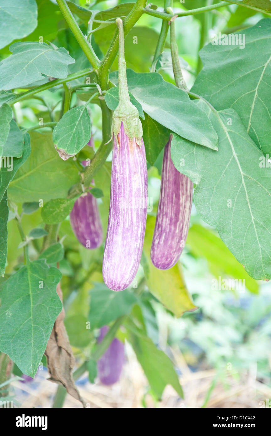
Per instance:
[[[128,85],[127,85],[127,77],[126,77],[126,62],[124,55],[124,34],[123,34],[123,23],[120,18],[116,20],[117,26],[119,28],[119,58],[118,58],[118,66],[119,66],[119,103],[130,101]]]

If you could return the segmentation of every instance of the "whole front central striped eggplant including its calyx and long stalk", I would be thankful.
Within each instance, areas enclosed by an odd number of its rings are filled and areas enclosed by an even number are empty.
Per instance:
[[[138,111],[130,102],[119,26],[119,105],[113,113],[111,192],[103,255],[106,286],[120,291],[133,281],[141,259],[147,218],[147,165]]]

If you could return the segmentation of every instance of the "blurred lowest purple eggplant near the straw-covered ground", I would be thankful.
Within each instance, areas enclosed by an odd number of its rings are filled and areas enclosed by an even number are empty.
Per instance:
[[[108,330],[107,326],[100,329],[98,342],[101,342]],[[119,380],[124,363],[124,345],[116,337],[106,352],[97,362],[99,380],[103,385],[113,385]]]

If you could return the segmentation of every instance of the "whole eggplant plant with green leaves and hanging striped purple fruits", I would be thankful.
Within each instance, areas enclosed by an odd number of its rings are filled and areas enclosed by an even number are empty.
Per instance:
[[[87,407],[76,379],[134,355],[141,404],[183,397],[175,350],[218,319],[196,280],[270,286],[270,2],[109,6],[0,0],[0,401],[47,368]]]

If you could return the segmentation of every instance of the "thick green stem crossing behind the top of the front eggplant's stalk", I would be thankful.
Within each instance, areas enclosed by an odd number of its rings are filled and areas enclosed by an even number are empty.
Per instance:
[[[128,14],[125,20],[123,20],[124,37],[126,37],[126,35],[130,32],[131,28],[134,27],[134,24],[136,24],[137,20],[139,20],[139,18],[141,17],[145,4],[146,0],[137,0],[134,4],[133,9],[130,11],[130,14]],[[114,59],[117,56],[117,52],[118,31],[115,32],[110,47],[108,48],[99,67],[99,85],[103,90],[106,90],[108,88],[109,70],[111,65],[113,64]]]

